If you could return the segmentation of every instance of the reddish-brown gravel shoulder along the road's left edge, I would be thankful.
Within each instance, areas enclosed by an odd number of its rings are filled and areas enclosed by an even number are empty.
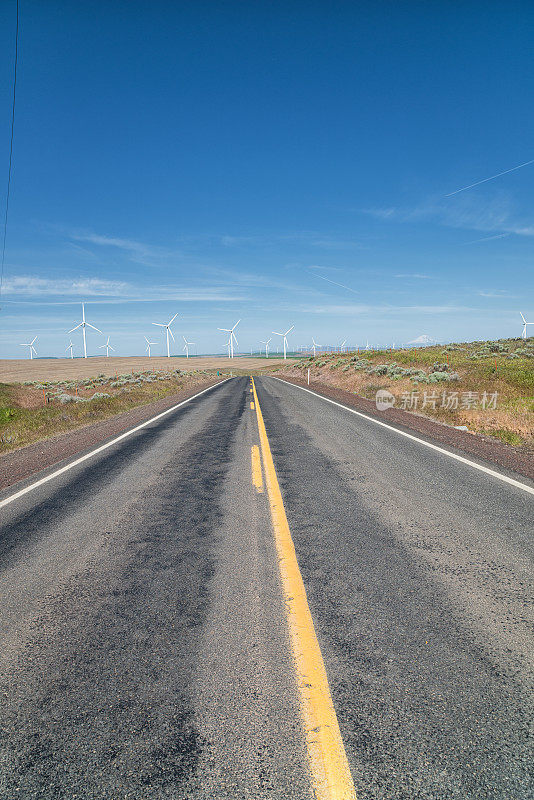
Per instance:
[[[61,461],[72,458],[85,450],[90,450],[102,444],[106,439],[118,436],[128,428],[139,425],[150,417],[219,382],[206,380],[176,394],[167,395],[155,403],[137,406],[101,422],[85,425],[49,439],[42,439],[27,447],[6,453],[0,458],[0,490],[6,489],[18,481],[26,480],[43,469],[59,465]]]

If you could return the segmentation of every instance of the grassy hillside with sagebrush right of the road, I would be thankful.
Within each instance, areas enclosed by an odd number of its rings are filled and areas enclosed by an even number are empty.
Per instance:
[[[374,399],[379,389],[448,425],[534,446],[534,339],[320,354],[276,369]]]

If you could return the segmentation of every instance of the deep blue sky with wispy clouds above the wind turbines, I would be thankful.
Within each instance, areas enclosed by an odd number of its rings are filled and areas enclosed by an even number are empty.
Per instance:
[[[200,352],[534,320],[534,164],[447,196],[534,159],[532,3],[20,6],[0,357],[60,355],[81,300],[118,355],[176,312]]]

